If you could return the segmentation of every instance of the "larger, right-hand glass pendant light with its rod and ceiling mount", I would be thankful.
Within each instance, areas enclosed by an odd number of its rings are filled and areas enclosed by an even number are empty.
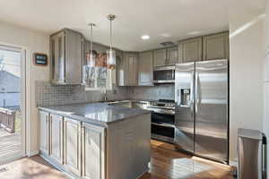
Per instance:
[[[107,64],[109,69],[116,68],[116,52],[112,49],[112,21],[115,20],[115,18],[115,15],[108,15],[108,20],[110,21],[110,48],[107,50]]]

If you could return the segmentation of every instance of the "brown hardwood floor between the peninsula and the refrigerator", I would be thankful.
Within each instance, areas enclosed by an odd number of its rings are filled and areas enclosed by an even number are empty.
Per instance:
[[[174,145],[152,140],[150,171],[141,179],[232,179],[232,168],[178,152]]]

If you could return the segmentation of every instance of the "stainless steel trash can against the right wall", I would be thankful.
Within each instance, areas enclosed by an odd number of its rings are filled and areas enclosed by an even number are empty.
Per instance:
[[[265,179],[265,136],[250,129],[238,130],[239,179]]]

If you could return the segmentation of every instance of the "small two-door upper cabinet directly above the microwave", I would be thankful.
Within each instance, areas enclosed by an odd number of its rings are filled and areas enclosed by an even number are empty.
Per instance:
[[[154,50],[154,66],[173,65],[178,63],[178,47]]]

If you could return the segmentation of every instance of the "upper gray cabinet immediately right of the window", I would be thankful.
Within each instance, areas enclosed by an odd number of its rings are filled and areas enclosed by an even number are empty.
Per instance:
[[[138,54],[123,53],[123,58],[117,60],[117,85],[137,86],[138,84]]]

